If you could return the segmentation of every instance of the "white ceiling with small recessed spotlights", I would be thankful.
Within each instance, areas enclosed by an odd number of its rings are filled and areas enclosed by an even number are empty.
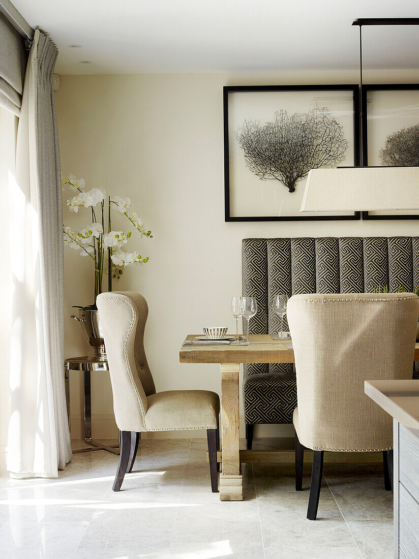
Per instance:
[[[356,69],[354,19],[419,16],[418,0],[12,2],[58,45],[60,74]],[[418,27],[364,27],[362,42],[365,68],[419,68]]]

